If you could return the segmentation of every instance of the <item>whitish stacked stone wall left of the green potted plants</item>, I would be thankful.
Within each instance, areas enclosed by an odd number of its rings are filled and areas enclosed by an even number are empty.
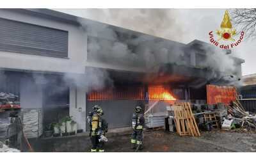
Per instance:
[[[43,133],[42,109],[22,109],[23,130],[27,138],[38,138]]]

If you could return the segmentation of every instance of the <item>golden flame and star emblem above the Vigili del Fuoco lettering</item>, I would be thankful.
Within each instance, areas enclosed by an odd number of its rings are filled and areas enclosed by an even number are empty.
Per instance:
[[[236,29],[232,28],[232,24],[230,22],[230,17],[228,15],[227,10],[221,22],[220,28],[221,28],[220,30],[216,31],[217,35],[220,36],[219,40],[235,41],[233,36],[236,35]]]

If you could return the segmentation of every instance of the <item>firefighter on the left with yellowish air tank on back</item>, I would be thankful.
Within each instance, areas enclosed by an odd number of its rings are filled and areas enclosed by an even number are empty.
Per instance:
[[[104,152],[104,141],[108,141],[105,137],[106,132],[108,132],[108,124],[104,118],[102,118],[103,111],[100,106],[94,106],[93,112],[90,113],[90,137],[92,141],[91,152]]]

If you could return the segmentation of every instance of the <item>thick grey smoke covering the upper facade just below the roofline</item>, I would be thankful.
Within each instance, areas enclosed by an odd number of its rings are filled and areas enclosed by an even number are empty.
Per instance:
[[[152,69],[168,62],[182,63],[184,44],[164,42],[161,38],[132,33],[79,19],[88,35],[88,61],[101,61],[112,65]],[[172,55],[172,56],[170,56]]]

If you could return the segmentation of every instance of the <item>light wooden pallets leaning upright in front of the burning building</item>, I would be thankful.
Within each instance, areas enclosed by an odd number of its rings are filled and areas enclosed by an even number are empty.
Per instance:
[[[180,136],[200,136],[195,117],[188,102],[173,105],[174,122]]]

